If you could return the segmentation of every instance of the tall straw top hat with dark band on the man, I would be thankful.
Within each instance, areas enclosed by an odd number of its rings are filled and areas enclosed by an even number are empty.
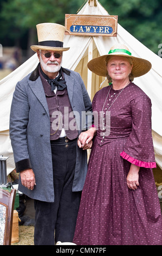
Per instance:
[[[65,27],[56,23],[40,23],[36,25],[38,44],[30,46],[34,52],[37,50],[67,51],[70,47],[63,47]]]

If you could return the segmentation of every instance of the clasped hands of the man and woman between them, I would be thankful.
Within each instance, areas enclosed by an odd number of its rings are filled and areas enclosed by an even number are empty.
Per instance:
[[[90,128],[88,131],[81,132],[78,138],[78,147],[83,148],[83,150],[90,149],[95,133],[96,129],[94,127]]]

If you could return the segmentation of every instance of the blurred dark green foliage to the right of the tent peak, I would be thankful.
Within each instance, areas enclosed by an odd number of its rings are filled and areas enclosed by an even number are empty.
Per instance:
[[[162,43],[161,0],[101,0],[110,15],[142,44],[158,54]]]

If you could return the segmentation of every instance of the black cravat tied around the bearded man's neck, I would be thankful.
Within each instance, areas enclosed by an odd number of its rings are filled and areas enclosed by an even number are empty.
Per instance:
[[[41,71],[41,74],[43,75],[43,77],[46,78],[47,82],[51,85],[51,90],[53,92],[53,90],[55,89],[55,87],[57,86],[57,89],[58,90],[64,90],[66,88],[66,82],[65,80],[61,79],[62,77],[62,70],[60,69],[59,70],[59,76],[57,76],[56,78],[54,79],[51,79],[49,78],[41,69],[41,66],[40,66],[40,71]]]

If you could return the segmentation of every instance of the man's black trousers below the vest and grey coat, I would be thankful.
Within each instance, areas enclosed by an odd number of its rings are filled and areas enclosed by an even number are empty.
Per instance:
[[[82,193],[72,192],[76,147],[76,139],[69,141],[65,137],[51,141],[54,203],[34,200],[35,245],[54,245],[58,241],[73,240]]]

